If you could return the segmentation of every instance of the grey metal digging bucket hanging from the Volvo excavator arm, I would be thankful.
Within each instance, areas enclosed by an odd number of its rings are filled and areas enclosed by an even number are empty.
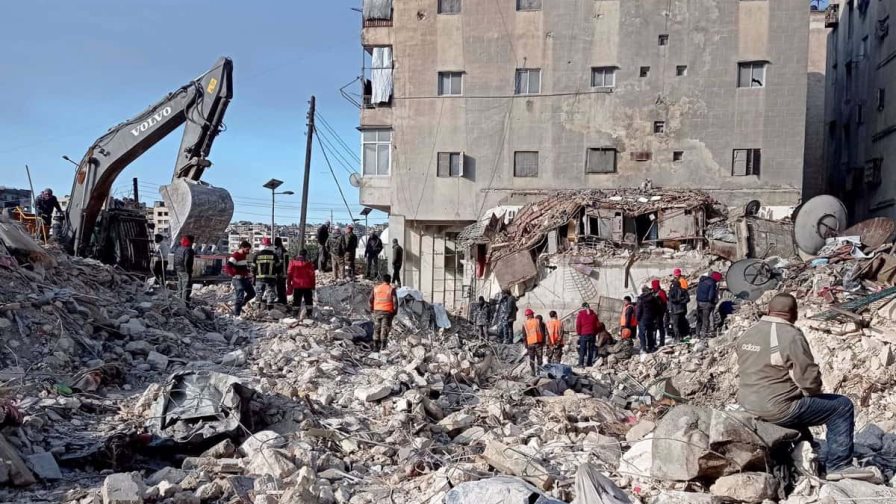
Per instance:
[[[177,178],[159,188],[169,209],[172,243],[193,235],[197,244],[216,244],[233,217],[233,199],[225,189]]]

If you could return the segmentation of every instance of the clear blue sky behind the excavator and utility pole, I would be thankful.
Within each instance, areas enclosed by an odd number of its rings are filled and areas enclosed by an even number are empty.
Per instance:
[[[68,194],[74,166],[113,125],[207,70],[219,56],[234,62],[227,131],[212,149],[204,180],[234,197],[235,219],[270,220],[270,178],[286,183],[277,221],[299,220],[305,114],[317,97],[320,114],[357,156],[358,109],[339,88],[361,66],[360,0],[28,0],[4,5],[0,20],[0,185]],[[357,84],[350,87],[357,92]],[[319,130],[323,130],[319,128]],[[158,198],[173,172],[180,131],[131,164],[114,184],[141,200]],[[309,220],[347,221],[348,212],[315,142]],[[355,217],[361,207],[348,184],[358,167],[330,156]],[[348,165],[348,166],[343,166]],[[371,222],[385,220],[373,212]]]

